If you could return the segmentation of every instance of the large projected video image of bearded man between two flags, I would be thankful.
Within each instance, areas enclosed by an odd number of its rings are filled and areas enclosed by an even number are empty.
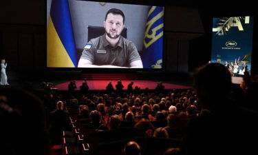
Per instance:
[[[164,7],[47,0],[48,68],[162,68]]]

